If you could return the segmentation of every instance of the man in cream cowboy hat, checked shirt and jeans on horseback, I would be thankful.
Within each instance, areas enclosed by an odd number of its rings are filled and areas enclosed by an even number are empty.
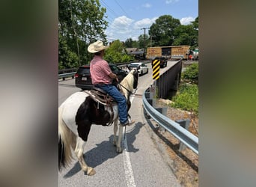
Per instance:
[[[118,102],[119,120],[122,126],[132,125],[134,120],[130,120],[127,112],[127,99],[118,91],[112,80],[116,79],[118,82],[118,76],[112,73],[107,61],[103,60],[103,55],[107,46],[103,45],[103,42],[98,40],[91,43],[88,46],[88,52],[94,53],[94,58],[90,63],[91,82],[97,87],[106,91],[110,96]]]

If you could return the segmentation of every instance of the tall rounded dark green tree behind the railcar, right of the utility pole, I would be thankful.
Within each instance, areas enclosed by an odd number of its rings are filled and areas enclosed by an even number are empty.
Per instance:
[[[180,25],[180,20],[170,15],[159,16],[156,23],[150,26],[150,37],[156,46],[171,46],[174,42],[174,29]]]

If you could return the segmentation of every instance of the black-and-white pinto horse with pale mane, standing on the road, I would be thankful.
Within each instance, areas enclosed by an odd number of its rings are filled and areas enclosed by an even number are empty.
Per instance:
[[[129,96],[138,86],[138,72],[130,70],[121,81],[120,91],[127,99],[127,110],[130,108]],[[111,108],[112,107],[112,108]],[[112,116],[111,116],[112,113]],[[114,114],[114,115],[113,115]],[[69,96],[58,108],[58,169],[66,168],[73,159],[71,147],[76,154],[79,164],[88,176],[94,175],[94,168],[88,167],[83,158],[85,144],[91,125],[107,126],[114,123],[114,145],[116,151],[122,153],[121,138],[124,126],[118,131],[118,105],[102,105],[96,102],[86,91],[79,91]]]

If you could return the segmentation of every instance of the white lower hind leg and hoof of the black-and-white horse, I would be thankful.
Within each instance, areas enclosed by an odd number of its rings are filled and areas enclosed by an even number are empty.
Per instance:
[[[83,157],[85,144],[86,144],[86,141],[83,141],[82,138],[77,137],[75,153],[76,153],[77,159],[79,160],[79,164],[81,165],[82,171],[85,171],[88,175],[94,175],[96,173],[94,171],[94,168],[88,167]]]

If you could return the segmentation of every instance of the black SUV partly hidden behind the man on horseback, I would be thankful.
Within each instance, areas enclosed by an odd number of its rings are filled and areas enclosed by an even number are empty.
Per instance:
[[[127,72],[122,70],[115,64],[109,64],[110,69],[113,73],[118,76],[119,82],[121,82],[125,76],[127,76]],[[91,73],[90,73],[90,65],[84,65],[79,67],[75,74],[75,85],[77,88],[81,88],[83,91],[91,90],[94,87],[91,82]],[[113,81],[113,84],[116,82]]]

